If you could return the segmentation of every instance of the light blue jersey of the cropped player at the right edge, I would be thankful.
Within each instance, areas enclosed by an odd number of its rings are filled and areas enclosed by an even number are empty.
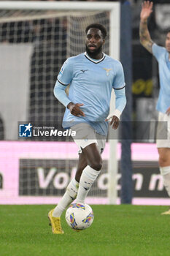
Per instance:
[[[152,45],[152,53],[158,61],[160,91],[156,109],[162,113],[170,107],[170,61],[166,48]]]

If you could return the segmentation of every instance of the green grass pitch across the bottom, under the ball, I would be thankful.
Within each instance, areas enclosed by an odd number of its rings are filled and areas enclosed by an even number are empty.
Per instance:
[[[0,206],[1,256],[168,256],[170,215],[166,206],[92,206],[94,221],[79,233],[62,216],[63,235],[53,235],[53,206]]]

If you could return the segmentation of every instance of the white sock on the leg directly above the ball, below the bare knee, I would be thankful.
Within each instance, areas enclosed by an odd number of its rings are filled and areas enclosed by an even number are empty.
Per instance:
[[[77,203],[85,203],[85,197],[88,195],[90,187],[96,180],[99,173],[100,170],[94,170],[89,165],[85,167],[85,169],[82,171],[76,199]]]

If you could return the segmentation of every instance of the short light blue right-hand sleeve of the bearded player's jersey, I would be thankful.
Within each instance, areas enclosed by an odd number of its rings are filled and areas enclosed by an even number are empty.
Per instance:
[[[115,90],[123,89],[125,87],[125,77],[124,77],[123,67],[120,61],[117,61],[115,78],[113,80],[112,87]]]

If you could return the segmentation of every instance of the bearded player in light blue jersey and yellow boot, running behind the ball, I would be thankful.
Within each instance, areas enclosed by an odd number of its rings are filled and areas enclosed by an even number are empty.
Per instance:
[[[74,142],[80,148],[75,178],[70,181],[58,206],[48,214],[53,233],[61,234],[61,214],[72,201],[85,203],[88,191],[100,173],[108,122],[117,129],[125,108],[125,80],[120,61],[103,53],[107,30],[101,24],[86,29],[86,52],[65,61],[55,83],[55,97],[66,111],[63,128],[76,131]],[[70,84],[69,96],[66,86]],[[109,115],[112,89],[115,90],[115,111]],[[108,116],[109,115],[109,116]]]

